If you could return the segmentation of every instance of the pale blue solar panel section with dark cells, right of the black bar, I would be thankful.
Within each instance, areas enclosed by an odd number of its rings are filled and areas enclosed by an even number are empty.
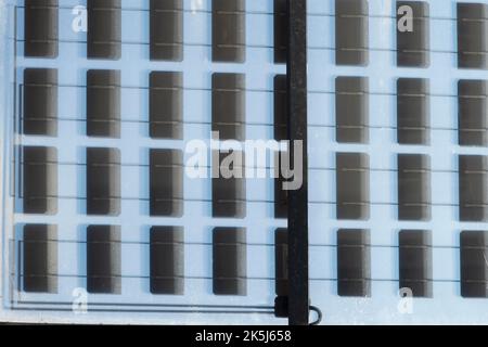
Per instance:
[[[308,2],[310,297],[330,322],[487,319],[487,7]]]

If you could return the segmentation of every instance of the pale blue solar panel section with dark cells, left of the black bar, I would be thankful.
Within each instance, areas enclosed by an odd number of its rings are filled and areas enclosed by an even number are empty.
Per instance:
[[[274,218],[273,179],[184,172],[185,145],[208,144],[211,131],[273,138],[273,80],[285,72],[274,2],[198,3],[11,2],[22,107],[7,297],[16,311],[285,322],[272,314],[274,267],[253,261],[273,257],[286,226]],[[72,30],[78,4],[88,33]],[[89,313],[75,316],[82,291]]]

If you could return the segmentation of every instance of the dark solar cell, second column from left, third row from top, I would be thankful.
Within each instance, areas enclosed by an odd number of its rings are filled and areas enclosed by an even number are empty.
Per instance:
[[[87,149],[87,215],[120,214],[120,151]]]

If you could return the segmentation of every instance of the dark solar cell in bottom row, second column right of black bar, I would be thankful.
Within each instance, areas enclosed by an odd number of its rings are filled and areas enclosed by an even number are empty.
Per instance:
[[[414,297],[432,297],[432,232],[402,230],[398,244],[400,290],[409,288]]]

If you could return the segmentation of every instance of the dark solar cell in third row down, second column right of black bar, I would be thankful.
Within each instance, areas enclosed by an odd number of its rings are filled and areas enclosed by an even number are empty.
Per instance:
[[[431,220],[431,157],[398,154],[398,219]]]

